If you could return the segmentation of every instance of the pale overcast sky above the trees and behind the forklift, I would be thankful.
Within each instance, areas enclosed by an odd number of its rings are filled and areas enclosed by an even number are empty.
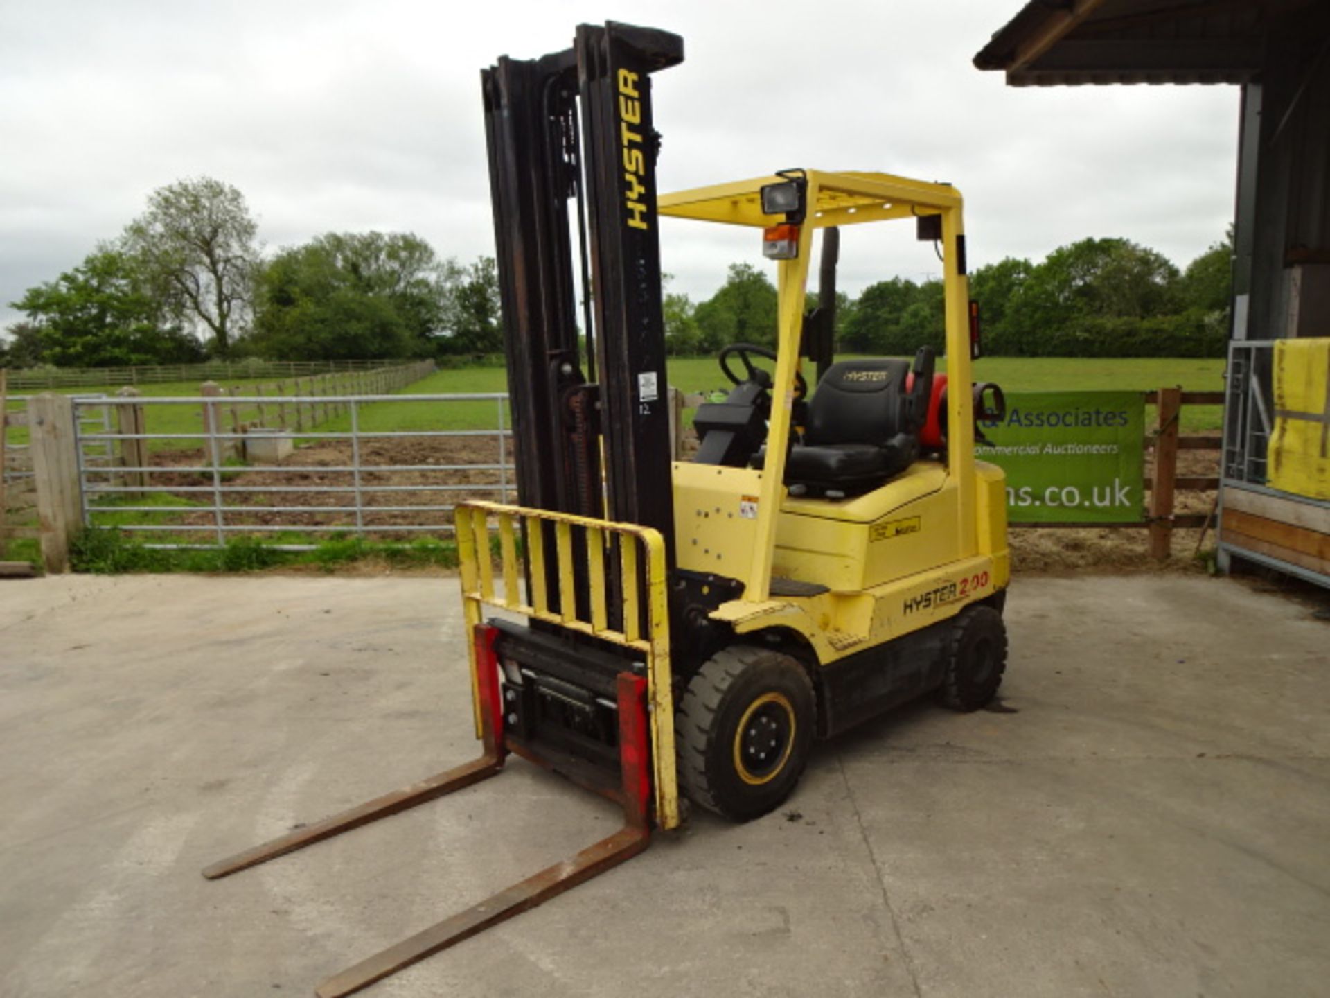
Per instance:
[[[7,303],[182,177],[239,188],[269,250],[414,232],[493,251],[479,69],[580,21],[684,36],[656,77],[662,190],[787,166],[946,180],[971,265],[1121,236],[1180,266],[1233,214],[1233,86],[1016,89],[971,59],[1019,0],[818,4],[44,0],[0,5],[0,326]],[[879,232],[870,232],[876,229]],[[883,234],[886,230],[887,234]],[[705,298],[750,232],[668,221],[673,290]],[[842,287],[936,270],[902,225],[849,232]]]

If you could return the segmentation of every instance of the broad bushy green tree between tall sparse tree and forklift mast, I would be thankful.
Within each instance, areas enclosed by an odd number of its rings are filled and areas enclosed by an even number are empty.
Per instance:
[[[406,233],[327,233],[283,250],[259,273],[254,331],[271,358],[414,357],[432,350],[456,265]]]

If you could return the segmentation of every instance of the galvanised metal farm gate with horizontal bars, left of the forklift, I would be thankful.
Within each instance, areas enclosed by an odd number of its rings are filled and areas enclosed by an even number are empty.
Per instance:
[[[452,534],[458,502],[515,492],[507,402],[504,393],[78,398],[82,524],[149,535],[153,548],[250,535],[297,551],[317,547],[313,535]],[[438,411],[422,419],[422,405]]]

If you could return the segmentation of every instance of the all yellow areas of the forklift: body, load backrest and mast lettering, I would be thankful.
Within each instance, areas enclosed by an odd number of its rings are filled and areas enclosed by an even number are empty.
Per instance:
[[[618,116],[628,225],[646,228],[642,190],[642,130],[637,105],[638,80],[618,76]],[[790,496],[783,484],[791,432],[791,393],[799,366],[805,286],[813,230],[884,218],[936,214],[942,218],[943,283],[946,295],[947,366],[952,383],[971,382],[968,287],[959,270],[963,234],[960,193],[946,184],[926,184],[884,173],[823,173],[807,170],[809,217],[799,226],[798,255],[778,270],[777,366],[771,378],[773,405],[767,422],[766,467],[725,467],[678,462],[673,466],[674,555],[680,570],[738,582],[739,599],[712,611],[713,620],[735,635],[773,632],[797,635],[827,665],[850,655],[887,644],[920,628],[948,620],[1005,588],[1009,579],[1007,507],[1000,468],[974,459],[971,393],[948,393],[951,432],[944,455],[930,456],[863,495],[850,499]],[[761,188],[781,177],[664,196],[658,210],[684,218],[762,226]],[[864,381],[878,373],[867,373]],[[497,596],[488,555],[487,518],[516,538],[523,520],[552,520],[553,550],[545,551],[541,530],[527,530],[531,603],[515,595],[519,572],[515,543],[503,551],[504,596]],[[507,526],[505,526],[507,524]],[[587,532],[584,544],[571,543],[571,528]],[[468,535],[469,532],[469,535]],[[622,564],[622,633],[606,629],[605,600],[614,589],[600,564],[610,534],[618,534]],[[628,535],[638,543],[624,543]],[[668,576],[664,542],[654,531],[539,510],[492,503],[459,504],[458,538],[467,620],[480,619],[481,603],[493,603],[529,617],[624,644],[645,656],[652,703],[652,762],[656,820],[664,828],[678,822],[672,671],[669,649]],[[638,547],[646,591],[638,593]],[[548,607],[544,566],[557,564],[563,588],[573,588],[575,560],[585,566],[592,613],[573,619],[572,607],[557,613]],[[596,564],[591,564],[595,562]],[[771,595],[773,580],[781,583]],[[783,593],[802,595],[783,595]],[[642,600],[649,633],[638,633]],[[689,663],[696,665],[696,663]]]

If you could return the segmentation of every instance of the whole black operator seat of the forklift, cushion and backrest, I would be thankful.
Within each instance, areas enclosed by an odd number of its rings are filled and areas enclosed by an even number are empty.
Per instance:
[[[803,444],[793,446],[785,462],[790,492],[858,495],[910,467],[919,456],[919,420],[906,391],[908,375],[910,362],[891,358],[831,365],[809,402]]]

